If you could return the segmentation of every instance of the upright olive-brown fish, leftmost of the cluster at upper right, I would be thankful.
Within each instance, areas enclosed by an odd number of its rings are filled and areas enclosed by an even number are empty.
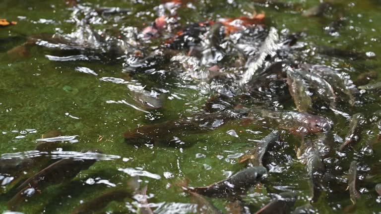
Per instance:
[[[306,112],[312,108],[312,100],[308,93],[308,85],[303,77],[292,69],[287,70],[287,85],[298,111]]]

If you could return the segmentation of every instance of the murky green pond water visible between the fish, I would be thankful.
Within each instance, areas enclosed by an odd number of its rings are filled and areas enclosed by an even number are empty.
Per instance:
[[[318,4],[318,0],[294,0],[301,3],[301,8],[309,8]],[[112,6],[130,9],[130,14],[118,20],[119,25],[134,26],[142,29],[151,23],[156,15],[153,6],[160,1],[139,0],[81,0],[80,4],[89,6]],[[292,9],[274,9],[250,1],[236,0],[233,3],[225,1],[193,1],[196,9],[180,8],[178,12],[182,24],[207,20],[210,17],[238,17],[244,11],[263,11],[266,14],[266,24],[276,27],[279,31],[288,29],[290,33],[305,31],[307,37],[304,42],[311,46],[328,46],[357,52],[374,52],[376,57],[359,60],[349,58],[311,58],[311,62],[330,65],[328,60],[335,61],[335,66],[343,66],[350,70],[352,79],[367,71],[380,70],[381,44],[381,2],[377,0],[341,0],[346,24],[340,28],[339,36],[330,36],[324,33],[323,27],[335,20],[335,14],[329,13],[325,17],[306,18],[299,11]],[[98,149],[103,154],[118,156],[112,160],[98,160],[88,170],[81,171],[73,180],[61,185],[53,185],[44,189],[40,194],[23,202],[19,211],[25,214],[70,213],[81,201],[88,201],[107,190],[125,188],[129,175],[120,171],[120,168],[135,168],[145,170],[161,176],[160,179],[140,176],[148,185],[147,193],[152,203],[152,209],[171,203],[192,203],[188,194],[179,188],[171,186],[176,181],[188,179],[191,186],[204,186],[227,177],[228,173],[237,172],[245,165],[237,163],[240,153],[245,153],[255,145],[252,140],[259,140],[269,133],[268,129],[257,125],[243,125],[241,121],[227,122],[218,129],[201,134],[181,136],[186,143],[184,148],[167,146],[135,147],[125,142],[123,133],[133,130],[140,125],[160,123],[179,118],[181,115],[192,116],[202,108],[210,97],[202,95],[190,87],[176,84],[174,75],[139,74],[129,76],[122,72],[122,62],[104,63],[100,60],[92,61],[50,61],[45,55],[55,55],[57,52],[34,46],[26,57],[12,57],[7,51],[26,41],[26,36],[36,34],[54,34],[57,28],[64,33],[70,33],[75,25],[68,20],[72,12],[71,6],[64,0],[23,1],[2,0],[0,2],[0,18],[17,21],[17,25],[0,28],[0,153],[22,153],[33,151],[38,138],[43,133],[59,129],[63,135],[78,135],[77,143],[66,143],[64,151],[88,151]],[[110,27],[109,21],[104,25],[96,25],[97,29]],[[154,46],[155,44],[152,44]],[[75,71],[75,68],[88,67],[98,76]],[[379,76],[381,73],[379,72]],[[115,84],[100,80],[102,77],[115,77],[138,80],[142,84],[156,86],[168,90],[173,99],[167,99],[164,107],[150,110],[150,113],[138,111],[125,104],[107,103],[107,101],[126,100],[134,104],[128,94],[125,84]],[[194,83],[196,85],[196,83]],[[173,96],[175,95],[175,96]],[[380,109],[377,93],[367,92],[363,104],[348,109],[349,114],[363,112],[367,118]],[[292,102],[282,103],[286,109],[294,109]],[[346,119],[326,112],[325,115],[334,122],[332,133],[342,138],[346,135]],[[72,116],[72,117],[70,117]],[[74,117],[74,118],[73,118]],[[35,131],[26,133],[26,129]],[[234,129],[239,137],[226,134]],[[252,134],[247,129],[260,131]],[[377,130],[374,124],[369,124],[362,132],[363,137],[344,157],[334,152],[324,160],[327,168],[341,169],[334,171],[336,176],[345,175],[351,160],[359,159],[362,166],[360,175],[367,175],[367,167],[381,160],[381,147],[374,147],[373,156],[363,156],[359,153],[360,145],[376,138]],[[17,131],[15,131],[17,130]],[[373,130],[374,134],[367,134],[366,130]],[[18,136],[23,136],[22,138]],[[179,136],[180,137],[180,136]],[[253,197],[248,197],[252,213],[271,200],[268,193],[279,193],[274,187],[285,186],[298,194],[297,206],[308,203],[309,195],[308,175],[305,166],[296,160],[294,147],[299,146],[299,139],[291,136],[287,131],[282,133],[283,146],[274,152],[278,153],[280,162],[275,165],[282,167],[280,173],[272,172],[263,182],[265,187]],[[334,148],[337,148],[337,145]],[[198,154],[198,155],[197,155]],[[201,158],[197,158],[202,154]],[[222,157],[222,158],[221,158]],[[230,158],[229,158],[230,157]],[[231,158],[233,157],[233,158]],[[335,162],[336,161],[336,162]],[[30,170],[29,174],[38,171],[38,166]],[[165,172],[173,176],[166,178]],[[167,173],[165,173],[167,174]],[[25,175],[25,178],[27,177]],[[89,179],[95,181],[88,184]],[[333,181],[337,182],[337,181]],[[318,213],[343,213],[343,208],[351,205],[349,192],[345,191],[346,184],[337,182],[337,188],[332,192],[324,192],[319,201],[314,204]],[[335,184],[330,184],[334,186]],[[358,189],[362,191],[355,213],[378,213],[381,205],[378,202],[375,184],[360,182]],[[115,187],[113,187],[115,186]],[[7,210],[6,202],[15,192],[0,196],[0,211]],[[226,200],[212,199],[214,205],[224,210]],[[136,209],[132,199],[124,202],[112,202],[101,213],[133,213]],[[176,213],[176,212],[174,212]]]

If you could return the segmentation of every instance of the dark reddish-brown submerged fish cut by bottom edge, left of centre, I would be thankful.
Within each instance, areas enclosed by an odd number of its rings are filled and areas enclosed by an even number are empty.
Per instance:
[[[125,198],[132,197],[127,190],[112,190],[76,207],[71,214],[93,214],[104,209],[110,202],[123,202]]]

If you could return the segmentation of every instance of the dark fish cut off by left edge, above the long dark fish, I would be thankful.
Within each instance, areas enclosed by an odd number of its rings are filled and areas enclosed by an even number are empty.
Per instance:
[[[10,158],[0,159],[0,174],[16,176],[22,170],[33,164],[33,160],[29,158]]]

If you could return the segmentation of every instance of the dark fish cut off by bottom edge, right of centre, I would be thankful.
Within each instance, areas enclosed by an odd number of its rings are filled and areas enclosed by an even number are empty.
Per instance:
[[[295,204],[295,201],[295,193],[280,193],[279,195],[275,195],[275,199],[254,214],[289,214]]]

